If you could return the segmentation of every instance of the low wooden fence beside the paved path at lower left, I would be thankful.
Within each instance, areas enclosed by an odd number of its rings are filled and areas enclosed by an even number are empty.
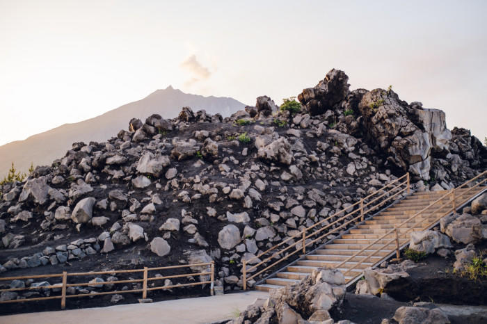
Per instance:
[[[154,270],[168,270],[168,269],[176,269],[176,268],[189,268],[189,267],[196,267],[196,266],[207,266],[209,267],[209,271],[202,271],[200,273],[185,273],[182,275],[166,275],[161,277],[149,277],[148,273]],[[207,268],[206,268],[207,269]],[[131,280],[116,280],[111,282],[78,282],[78,283],[71,283],[68,284],[68,277],[80,277],[80,276],[93,276],[93,275],[115,275],[116,273],[143,273],[142,279],[131,279]],[[154,280],[166,280],[166,279],[173,279],[173,278],[182,278],[182,277],[192,277],[192,276],[209,276],[209,280],[205,280],[202,282],[191,282],[189,284],[173,284],[168,286],[154,286],[154,287],[147,287],[147,283],[154,281]],[[94,271],[88,273],[67,273],[63,271],[63,273],[56,273],[56,274],[47,274],[47,275],[26,275],[26,276],[18,276],[18,277],[1,277],[0,282],[5,281],[12,281],[12,280],[29,280],[29,279],[39,279],[39,278],[62,278],[62,282],[60,284],[50,284],[49,286],[30,286],[30,287],[20,287],[20,288],[10,288],[10,289],[0,289],[0,293],[4,291],[7,292],[15,292],[15,291],[31,291],[31,290],[43,290],[43,289],[61,289],[61,295],[55,296],[47,296],[47,297],[37,297],[37,298],[22,298],[22,299],[14,299],[14,300],[4,300],[0,301],[0,304],[7,304],[13,302],[30,302],[30,301],[39,301],[39,300],[52,300],[52,299],[61,299],[61,309],[65,309],[66,307],[66,298],[81,298],[86,296],[95,296],[95,295],[111,295],[115,293],[142,293],[142,298],[147,298],[147,292],[149,291],[156,291],[156,290],[163,290],[163,289],[173,289],[179,288],[184,286],[198,286],[198,285],[210,285],[210,293],[211,295],[214,294],[214,279],[215,279],[215,263],[214,261],[200,263],[200,264],[184,264],[179,266],[164,266],[164,267],[157,267],[157,268],[142,268],[142,269],[134,269],[134,270],[109,270],[109,271]],[[131,289],[131,290],[121,290],[121,291],[102,291],[97,293],[77,293],[74,295],[67,295],[66,290],[68,287],[75,287],[75,286],[93,286],[93,287],[100,287],[104,285],[112,285],[112,284],[129,284],[129,283],[142,283],[142,289]]]

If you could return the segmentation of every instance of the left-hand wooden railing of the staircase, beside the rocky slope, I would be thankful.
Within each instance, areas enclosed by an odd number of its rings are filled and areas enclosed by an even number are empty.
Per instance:
[[[402,188],[403,186],[404,188]],[[397,192],[393,193],[394,191]],[[389,184],[386,184],[382,188],[379,188],[378,190],[374,191],[374,193],[371,193],[370,195],[361,198],[358,202],[351,204],[351,206],[347,206],[346,208],[337,211],[333,215],[328,216],[323,220],[320,220],[314,225],[311,225],[310,227],[306,227],[305,229],[301,230],[301,232],[298,232],[297,234],[294,234],[293,236],[285,239],[284,241],[278,243],[277,245],[274,245],[268,250],[261,252],[260,254],[257,254],[255,257],[242,261],[244,290],[247,289],[248,281],[252,280],[257,275],[260,275],[261,273],[264,273],[266,270],[273,268],[280,262],[289,259],[289,257],[292,257],[294,254],[297,254],[299,252],[301,252],[302,254],[306,254],[306,248],[308,246],[323,240],[324,238],[326,238],[326,236],[330,236],[331,234],[335,234],[336,232],[345,229],[347,225],[353,222],[362,222],[365,219],[365,215],[367,213],[370,213],[371,211],[376,211],[379,207],[383,206],[386,202],[390,202],[390,200],[392,200],[394,197],[397,197],[397,195],[400,195],[405,191],[406,194],[410,193],[409,172],[406,173],[406,175],[403,175],[402,177],[399,177],[398,179],[391,181]],[[341,216],[342,214],[344,214],[344,216]],[[358,215],[353,216],[353,214],[358,214]],[[351,219],[348,219],[351,216],[353,217]],[[334,220],[334,218],[336,217],[338,217],[338,219]],[[327,232],[324,232],[326,229],[329,229],[330,227],[333,227],[333,225],[337,225],[337,224],[340,225],[333,229],[328,230]],[[316,229],[320,225],[321,227],[319,229]],[[314,231],[310,232],[312,229],[314,229]],[[320,234],[322,232],[324,232],[324,234],[321,234],[321,236],[317,238],[313,238],[314,236],[317,236],[317,234]],[[294,241],[295,239],[297,239],[297,241]],[[282,250],[276,250],[277,248],[280,248],[282,245],[285,244],[288,244],[286,248],[282,248]],[[294,248],[294,251],[291,250],[292,248]],[[276,251],[273,252],[274,250]],[[291,250],[292,252],[287,252],[289,250]],[[265,259],[262,259],[262,261],[257,262],[257,264],[253,264],[252,266],[247,266],[248,264],[251,264],[255,260],[260,260],[261,257],[266,256],[266,254],[269,254],[269,252],[273,252],[269,257],[265,257]],[[254,273],[253,275],[247,276],[247,273],[257,270],[259,266],[265,265],[266,262],[270,261],[275,257],[278,257],[278,255],[285,252],[287,252],[287,254],[284,257],[279,257],[278,260],[274,261],[269,266],[266,266],[262,270],[257,271],[257,273]]]

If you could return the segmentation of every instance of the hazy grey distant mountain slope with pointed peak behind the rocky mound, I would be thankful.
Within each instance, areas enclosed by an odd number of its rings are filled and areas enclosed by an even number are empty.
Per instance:
[[[127,129],[131,118],[145,120],[153,113],[163,118],[175,118],[183,106],[193,111],[205,109],[207,113],[220,113],[227,117],[243,109],[245,104],[228,97],[203,97],[191,95],[169,86],[152,92],[144,99],[131,102],[83,122],[63,124],[60,127],[38,133],[26,140],[17,140],[0,146],[0,177],[8,172],[12,161],[17,170],[26,171],[31,162],[34,165],[50,165],[54,159],[63,156],[74,142],[89,143],[111,138],[120,129]]]

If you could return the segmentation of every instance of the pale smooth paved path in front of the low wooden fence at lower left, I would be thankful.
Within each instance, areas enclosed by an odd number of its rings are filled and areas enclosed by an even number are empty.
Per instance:
[[[268,298],[263,291],[167,300],[150,304],[129,304],[99,308],[44,311],[0,316],[0,323],[78,324],[78,323],[211,323],[233,318],[257,298]]]

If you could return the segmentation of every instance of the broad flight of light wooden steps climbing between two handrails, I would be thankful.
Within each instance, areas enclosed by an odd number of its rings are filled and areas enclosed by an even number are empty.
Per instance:
[[[459,203],[456,208],[460,208],[483,191],[486,191],[485,186],[456,189],[454,201]],[[411,232],[431,228],[438,223],[439,217],[451,213],[452,200],[449,193],[450,191],[435,191],[408,195],[373,218],[360,222],[360,225],[350,229],[347,234],[338,236],[317,250],[301,255],[298,260],[271,275],[264,282],[257,283],[255,289],[269,291],[294,284],[318,267],[338,268],[345,274],[347,284],[352,284],[362,276],[363,269],[381,264],[391,257],[398,247],[404,248],[409,243]],[[436,204],[435,208],[428,208],[431,204]],[[415,218],[409,220],[411,216]],[[405,222],[406,220],[408,222]],[[397,236],[394,229],[397,229]],[[394,232],[390,233],[391,231]],[[390,243],[391,239],[395,238],[399,244]]]

